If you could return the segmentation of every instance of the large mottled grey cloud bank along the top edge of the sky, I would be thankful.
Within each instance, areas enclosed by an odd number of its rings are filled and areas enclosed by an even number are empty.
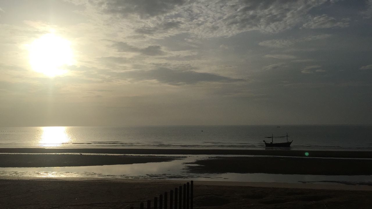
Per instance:
[[[279,33],[303,25],[306,14],[327,1],[86,0],[85,4],[86,15],[97,13],[97,20],[103,17],[125,32],[141,34],[138,39],[183,33],[193,38],[230,37],[253,30]]]

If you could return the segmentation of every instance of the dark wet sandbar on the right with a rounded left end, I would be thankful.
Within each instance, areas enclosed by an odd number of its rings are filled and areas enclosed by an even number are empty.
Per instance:
[[[187,166],[192,173],[372,175],[370,159],[307,157],[209,157]]]

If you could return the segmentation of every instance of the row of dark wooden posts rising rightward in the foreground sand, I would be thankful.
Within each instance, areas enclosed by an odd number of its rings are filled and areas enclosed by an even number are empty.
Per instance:
[[[182,193],[183,190],[183,193]],[[169,209],[193,209],[193,194],[194,194],[194,182],[187,182],[179,188],[174,188],[169,192]],[[158,204],[159,200],[159,204]],[[163,205],[164,201],[164,205]],[[158,197],[154,197],[153,209],[168,209],[168,192],[164,192],[164,196],[161,194]],[[130,209],[134,209],[133,206]],[[144,209],[144,203],[140,203],[140,209]],[[147,209],[151,209],[151,200],[147,200]]]

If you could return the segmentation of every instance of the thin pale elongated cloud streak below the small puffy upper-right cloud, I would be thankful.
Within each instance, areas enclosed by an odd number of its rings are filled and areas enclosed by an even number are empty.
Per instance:
[[[272,48],[287,48],[300,42],[308,42],[312,40],[320,40],[331,37],[331,34],[321,34],[316,36],[307,36],[299,39],[272,39],[260,42],[260,46],[272,47]]]

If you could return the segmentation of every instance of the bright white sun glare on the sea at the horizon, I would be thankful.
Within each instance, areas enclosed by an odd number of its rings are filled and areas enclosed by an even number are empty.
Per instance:
[[[40,145],[43,147],[57,147],[67,143],[71,138],[66,133],[66,127],[42,127]]]

